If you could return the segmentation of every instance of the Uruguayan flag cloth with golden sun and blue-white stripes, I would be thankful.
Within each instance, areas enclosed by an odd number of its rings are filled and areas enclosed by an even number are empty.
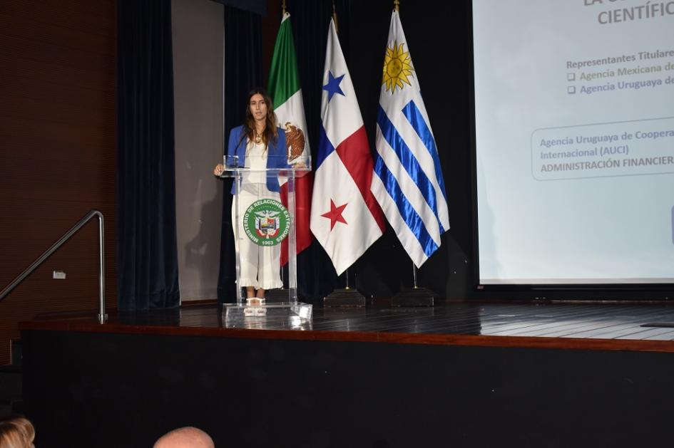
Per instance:
[[[419,267],[449,229],[438,150],[397,11],[391,16],[377,113],[372,193]]]

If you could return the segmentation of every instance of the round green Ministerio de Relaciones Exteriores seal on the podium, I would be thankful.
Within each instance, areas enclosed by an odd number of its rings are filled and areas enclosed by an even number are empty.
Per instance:
[[[243,228],[258,246],[276,246],[290,233],[290,212],[275,199],[258,199],[244,212]]]

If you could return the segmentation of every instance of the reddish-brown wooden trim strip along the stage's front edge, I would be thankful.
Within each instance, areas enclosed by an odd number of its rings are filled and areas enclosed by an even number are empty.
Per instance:
[[[674,353],[670,340],[616,340],[599,338],[552,338],[460,334],[395,333],[383,331],[264,330],[245,328],[183,327],[170,325],[100,324],[91,321],[21,322],[20,330],[66,331],[135,335],[194,336],[232,339],[313,340],[352,343],[456,345],[560,350],[608,350]]]

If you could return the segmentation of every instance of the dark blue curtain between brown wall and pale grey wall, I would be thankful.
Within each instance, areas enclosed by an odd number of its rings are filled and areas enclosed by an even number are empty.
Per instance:
[[[180,304],[170,0],[118,0],[118,306]]]

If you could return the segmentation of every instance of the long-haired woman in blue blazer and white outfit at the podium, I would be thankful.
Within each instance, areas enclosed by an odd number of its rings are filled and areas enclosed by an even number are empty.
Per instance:
[[[247,298],[265,298],[265,290],[283,286],[279,266],[281,246],[257,246],[250,241],[241,217],[257,199],[280,202],[278,177],[276,174],[267,176],[264,170],[290,165],[287,165],[285,131],[277,127],[272,100],[264,89],[255,88],[248,93],[245,123],[230,131],[227,155],[238,156],[237,165],[250,169],[245,172],[239,189],[238,214],[236,202],[232,202],[232,222],[236,226],[234,241],[240,265],[238,287],[246,288]],[[225,166],[218,164],[213,174],[220,176],[224,170]],[[235,194],[235,185],[232,194]]]

